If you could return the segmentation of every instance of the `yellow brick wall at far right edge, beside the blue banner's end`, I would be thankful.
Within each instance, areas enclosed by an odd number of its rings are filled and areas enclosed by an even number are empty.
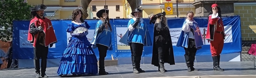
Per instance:
[[[240,16],[242,40],[255,40],[256,3],[234,3],[234,14]]]

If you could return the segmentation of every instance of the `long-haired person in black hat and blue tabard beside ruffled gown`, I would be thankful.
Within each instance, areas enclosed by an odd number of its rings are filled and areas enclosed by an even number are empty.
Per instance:
[[[100,20],[96,24],[95,33],[92,38],[92,47],[98,47],[99,50],[99,75],[108,75],[104,67],[107,50],[112,50],[112,28],[109,23],[108,9],[99,10],[96,16],[100,18]]]

